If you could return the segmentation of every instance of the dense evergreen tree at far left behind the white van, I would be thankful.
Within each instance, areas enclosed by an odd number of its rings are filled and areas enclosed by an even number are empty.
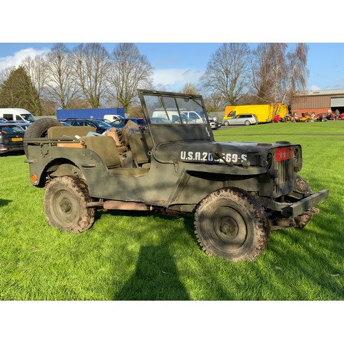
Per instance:
[[[10,72],[0,88],[0,107],[21,107],[33,115],[41,115],[39,94],[23,65]]]

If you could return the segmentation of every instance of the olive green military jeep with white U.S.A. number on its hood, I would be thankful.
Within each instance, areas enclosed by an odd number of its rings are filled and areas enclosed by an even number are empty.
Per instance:
[[[96,136],[42,118],[25,133],[30,182],[45,187],[51,226],[83,232],[97,208],[194,213],[204,252],[252,261],[270,230],[303,228],[328,197],[299,176],[299,144],[215,142],[202,96],[138,95],[147,131],[129,128],[120,139],[120,131]],[[202,122],[186,116],[190,111]]]

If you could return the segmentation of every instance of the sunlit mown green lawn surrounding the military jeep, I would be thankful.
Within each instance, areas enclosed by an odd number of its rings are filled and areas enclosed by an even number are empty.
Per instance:
[[[0,157],[0,300],[343,300],[341,133],[344,122],[214,132],[218,141],[300,143],[300,174],[314,191],[330,189],[308,226],[273,231],[251,263],[205,255],[191,215],[100,211],[83,234],[51,228],[25,156]]]

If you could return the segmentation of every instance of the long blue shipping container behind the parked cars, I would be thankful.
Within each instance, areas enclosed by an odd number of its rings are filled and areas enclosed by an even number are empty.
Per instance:
[[[120,115],[125,117],[124,107],[116,107],[112,109],[70,109],[56,110],[56,118],[58,120],[67,120],[67,118],[104,118],[105,115]]]

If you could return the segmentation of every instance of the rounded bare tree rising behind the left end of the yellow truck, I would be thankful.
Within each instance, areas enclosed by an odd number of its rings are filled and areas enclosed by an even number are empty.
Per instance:
[[[223,43],[211,56],[200,79],[202,85],[230,105],[237,105],[246,93],[249,56],[247,43]]]

